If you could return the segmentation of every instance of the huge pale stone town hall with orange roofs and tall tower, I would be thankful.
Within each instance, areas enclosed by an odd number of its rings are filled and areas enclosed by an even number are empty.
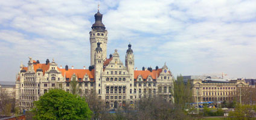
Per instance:
[[[22,110],[31,109],[33,101],[50,89],[59,88],[71,92],[71,80],[78,81],[78,94],[97,93],[98,98],[106,101],[110,108],[120,104],[136,104],[142,97],[161,95],[173,101],[173,77],[168,67],[142,68],[134,70],[132,45],[128,45],[125,64],[115,50],[107,58],[107,30],[102,23],[103,15],[95,14],[95,23],[90,34],[91,65],[89,69],[58,67],[57,63],[45,63],[29,59],[27,67],[20,66],[16,79],[16,101]]]

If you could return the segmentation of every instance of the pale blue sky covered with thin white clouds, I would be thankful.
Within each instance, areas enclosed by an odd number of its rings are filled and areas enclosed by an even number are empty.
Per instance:
[[[0,81],[14,81],[28,56],[88,68],[97,13],[109,32],[107,56],[124,63],[131,41],[139,70],[164,62],[174,76],[256,77],[256,1],[0,1]]]

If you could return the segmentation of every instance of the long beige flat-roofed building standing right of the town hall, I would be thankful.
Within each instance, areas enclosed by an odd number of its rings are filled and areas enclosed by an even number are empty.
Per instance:
[[[193,102],[205,103],[213,101],[213,103],[221,101],[233,101],[236,97],[237,90],[241,87],[248,86],[243,79],[236,80],[211,80],[211,79],[192,79],[193,86]]]

